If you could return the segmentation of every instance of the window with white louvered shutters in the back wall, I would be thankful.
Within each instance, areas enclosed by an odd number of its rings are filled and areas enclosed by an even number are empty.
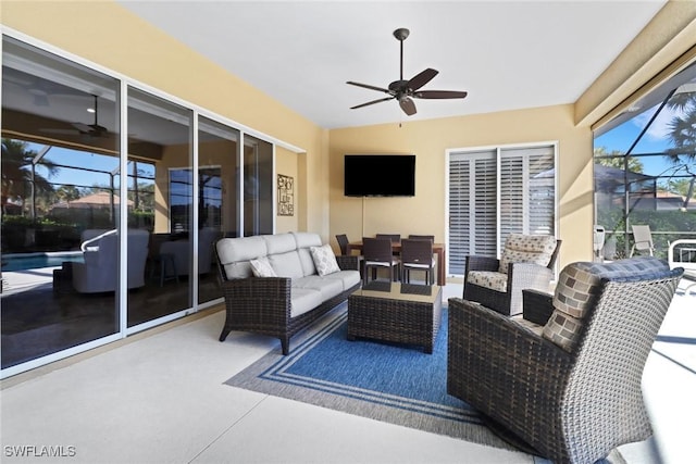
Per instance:
[[[448,273],[500,256],[509,234],[556,235],[555,143],[448,151]]]

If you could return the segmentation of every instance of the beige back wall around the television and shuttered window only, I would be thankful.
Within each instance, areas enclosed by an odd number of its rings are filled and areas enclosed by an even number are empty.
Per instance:
[[[448,117],[331,131],[331,230],[351,240],[376,233],[434,234],[444,241],[446,150],[530,142],[559,143],[560,263],[592,258],[592,133],[573,124],[573,106]],[[344,154],[415,154],[415,197],[344,197]],[[388,175],[388,173],[385,173]]]

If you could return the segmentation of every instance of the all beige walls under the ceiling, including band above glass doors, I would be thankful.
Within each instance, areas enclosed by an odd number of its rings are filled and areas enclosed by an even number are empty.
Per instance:
[[[592,256],[592,133],[588,128],[650,78],[645,63],[675,60],[695,40],[694,8],[669,2],[576,105],[560,105],[419,123],[325,130],[196,54],[121,5],[103,2],[2,2],[2,24],[298,147],[297,228],[325,240],[346,233],[434,233],[445,236],[445,150],[488,145],[559,142],[560,263]],[[688,2],[687,2],[688,3]],[[675,27],[674,21],[688,15]],[[644,43],[659,43],[656,52]],[[652,64],[654,61],[648,63]],[[626,75],[627,70],[627,75]],[[639,71],[639,74],[633,73]],[[633,73],[633,74],[632,74]],[[649,74],[649,73],[648,73]],[[631,78],[630,88],[622,80]],[[561,85],[561,84],[559,84]],[[614,89],[620,88],[620,91]],[[602,103],[605,100],[610,103]],[[580,126],[575,125],[575,122]],[[417,197],[343,197],[343,154],[418,155]],[[363,211],[364,206],[364,211]],[[364,216],[364,221],[363,221]],[[284,226],[285,227],[285,226]]]

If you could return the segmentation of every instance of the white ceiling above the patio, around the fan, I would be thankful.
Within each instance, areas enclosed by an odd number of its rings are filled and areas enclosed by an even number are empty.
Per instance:
[[[324,128],[572,103],[666,3],[643,1],[137,1],[148,23]],[[463,100],[396,101],[387,87],[433,67],[422,90]]]

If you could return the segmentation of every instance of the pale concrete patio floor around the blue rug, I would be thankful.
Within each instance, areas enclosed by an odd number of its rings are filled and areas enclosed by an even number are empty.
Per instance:
[[[693,462],[696,296],[680,291],[644,376],[655,437],[630,464]],[[447,285],[444,298],[460,296]],[[208,311],[2,381],[8,462],[533,463],[530,455],[223,385],[278,341],[233,333]],[[18,457],[51,451],[70,457]],[[538,461],[545,462],[545,461]]]

